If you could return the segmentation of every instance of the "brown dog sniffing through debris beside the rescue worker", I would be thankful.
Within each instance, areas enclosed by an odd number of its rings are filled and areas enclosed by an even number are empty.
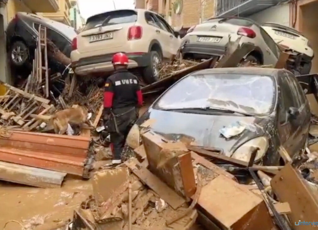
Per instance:
[[[30,115],[37,120],[49,121],[44,132],[54,129],[55,133],[65,134],[68,124],[79,125],[88,120],[88,111],[85,107],[63,109],[54,115]]]

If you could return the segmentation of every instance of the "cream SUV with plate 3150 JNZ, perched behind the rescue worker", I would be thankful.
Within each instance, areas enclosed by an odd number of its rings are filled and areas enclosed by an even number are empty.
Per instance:
[[[87,19],[73,40],[72,68],[77,75],[112,72],[112,56],[126,53],[128,68],[140,70],[147,83],[157,80],[158,64],[177,53],[181,39],[162,16],[142,9],[114,10]]]

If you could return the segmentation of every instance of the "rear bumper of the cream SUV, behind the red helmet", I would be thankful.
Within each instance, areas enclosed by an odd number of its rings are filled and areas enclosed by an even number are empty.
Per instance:
[[[112,58],[114,54],[81,58],[72,63],[72,68],[77,75],[111,72],[114,70]],[[149,53],[128,53],[128,68],[146,67],[150,64]]]

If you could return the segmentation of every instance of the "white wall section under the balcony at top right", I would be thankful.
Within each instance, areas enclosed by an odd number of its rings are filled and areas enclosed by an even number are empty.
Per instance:
[[[270,7],[266,10],[249,16],[248,18],[258,23],[274,22],[289,26],[289,3]]]

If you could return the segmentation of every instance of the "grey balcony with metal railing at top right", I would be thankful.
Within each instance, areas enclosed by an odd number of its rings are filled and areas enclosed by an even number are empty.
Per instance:
[[[217,16],[250,16],[272,7],[281,0],[218,0]]]

